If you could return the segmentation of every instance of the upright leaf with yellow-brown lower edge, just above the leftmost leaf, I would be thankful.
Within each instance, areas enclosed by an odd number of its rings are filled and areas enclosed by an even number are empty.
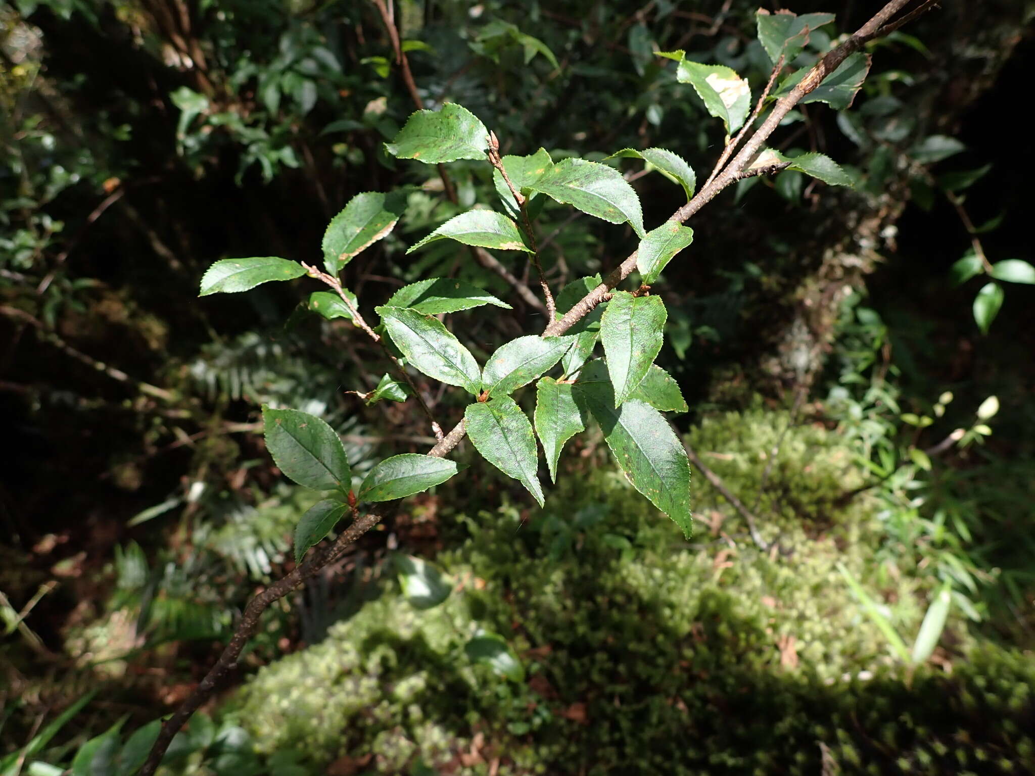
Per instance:
[[[366,247],[387,236],[406,211],[410,189],[356,195],[324,232],[324,266],[332,275]]]

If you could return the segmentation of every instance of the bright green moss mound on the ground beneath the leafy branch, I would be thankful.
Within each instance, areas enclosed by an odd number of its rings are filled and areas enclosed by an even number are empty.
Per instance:
[[[721,416],[692,444],[719,453],[716,471],[750,495],[758,450],[786,420]],[[510,504],[443,510],[443,531],[460,539],[437,563],[462,591],[419,611],[383,579],[379,598],[261,670],[234,706],[267,752],[298,749],[316,767],[373,753],[381,773],[418,759],[485,773],[500,757],[501,774],[812,774],[824,756],[852,772],[938,773],[1030,749],[1003,725],[1032,729],[1030,656],[976,647],[950,620],[969,650],[952,676],[907,678],[894,664],[835,568],[895,601],[896,627],[916,632],[914,583],[873,585],[874,527],[858,505],[838,506],[860,481],[823,428],[791,429],[759,507],[775,515],[763,526],[775,553],[703,526],[684,541],[610,469],[563,479],[531,516]],[[718,512],[739,537],[721,499],[693,489],[698,513]],[[526,684],[467,661],[478,628],[509,640]],[[465,765],[459,753],[474,744],[481,758]]]

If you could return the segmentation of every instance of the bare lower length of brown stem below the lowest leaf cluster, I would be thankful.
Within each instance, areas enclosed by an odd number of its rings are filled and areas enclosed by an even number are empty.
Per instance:
[[[353,515],[355,516],[355,512],[353,512]],[[262,617],[263,611],[274,601],[293,592],[299,585],[324,566],[341,558],[346,549],[377,525],[380,519],[380,515],[373,513],[356,517],[352,525],[338,534],[337,538],[330,545],[324,547],[300,566],[296,566],[291,573],[273,583],[248,601],[244,607],[244,614],[241,616],[241,621],[234,631],[234,635],[231,637],[226,649],[224,649],[223,654],[219,655],[219,659],[216,660],[215,665],[209,669],[208,674],[205,675],[201,683],[187,696],[186,700],[180,704],[180,707],[173,715],[162,722],[158,738],[154,742],[154,746],[151,747],[151,752],[147,755],[143,767],[141,767],[139,776],[153,776],[161,763],[162,756],[166,754],[166,750],[172,743],[173,737],[179,733],[179,729],[190,718],[190,715],[198,711],[202,704],[211,697],[226,676],[237,667],[237,658],[240,657],[244,645],[247,644],[248,638],[252,637],[256,628],[259,627],[259,619]]]

